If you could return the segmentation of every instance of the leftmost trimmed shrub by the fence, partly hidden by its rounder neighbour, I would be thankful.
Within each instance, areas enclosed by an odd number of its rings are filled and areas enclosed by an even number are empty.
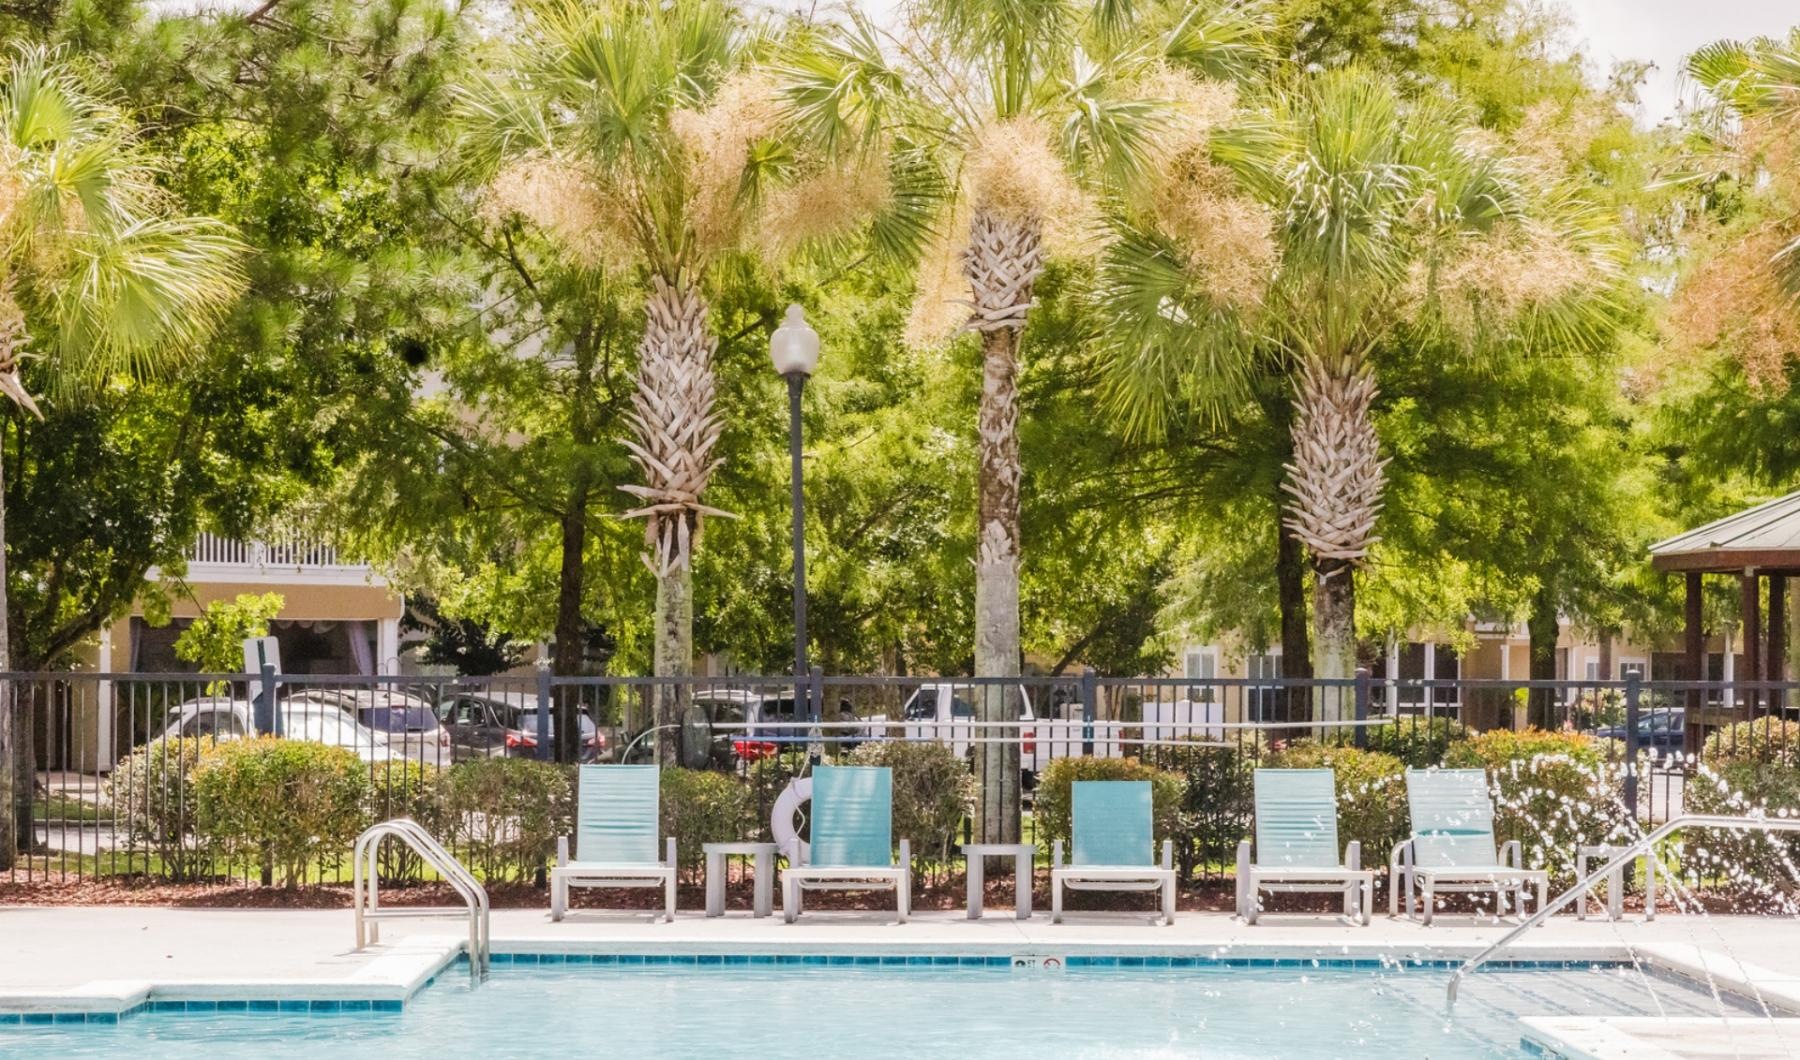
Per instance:
[[[106,797],[124,824],[131,849],[162,862],[171,880],[191,880],[205,864],[193,844],[198,806],[194,770],[200,767],[200,740],[151,740],[113,767],[106,779]]]

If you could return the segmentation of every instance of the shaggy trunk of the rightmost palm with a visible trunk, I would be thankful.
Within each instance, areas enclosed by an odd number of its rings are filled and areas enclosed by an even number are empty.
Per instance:
[[[1375,376],[1355,358],[1307,356],[1294,407],[1294,463],[1282,482],[1287,526],[1312,552],[1312,671],[1355,675],[1355,569],[1368,558],[1381,515],[1386,461],[1375,437]],[[1348,696],[1316,698],[1314,714],[1337,718]]]

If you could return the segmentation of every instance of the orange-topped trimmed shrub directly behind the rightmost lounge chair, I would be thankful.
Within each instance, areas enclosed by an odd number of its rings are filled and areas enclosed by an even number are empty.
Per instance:
[[[1526,867],[1548,869],[1553,885],[1575,880],[1577,844],[1625,835],[1618,770],[1582,732],[1492,729],[1453,743],[1444,765],[1487,768],[1498,837],[1517,839]]]

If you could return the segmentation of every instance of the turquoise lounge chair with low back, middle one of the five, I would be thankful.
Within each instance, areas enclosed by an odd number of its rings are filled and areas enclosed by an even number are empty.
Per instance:
[[[1175,846],[1163,840],[1163,864],[1150,837],[1150,781],[1075,781],[1073,857],[1062,864],[1062,840],[1051,853],[1049,920],[1062,923],[1062,889],[1161,891],[1161,923],[1175,921]]]

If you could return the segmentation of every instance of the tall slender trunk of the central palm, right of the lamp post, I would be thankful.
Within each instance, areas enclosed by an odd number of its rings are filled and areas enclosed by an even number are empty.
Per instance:
[[[1031,310],[1031,284],[1044,272],[1035,223],[976,211],[968,225],[963,275],[974,295],[967,328],[981,333],[981,409],[976,506],[976,677],[1019,677],[1019,331]],[[1019,689],[1003,682],[977,689],[983,722],[1019,720]],[[979,840],[1019,842],[1017,729],[983,729],[976,743],[981,779]]]

